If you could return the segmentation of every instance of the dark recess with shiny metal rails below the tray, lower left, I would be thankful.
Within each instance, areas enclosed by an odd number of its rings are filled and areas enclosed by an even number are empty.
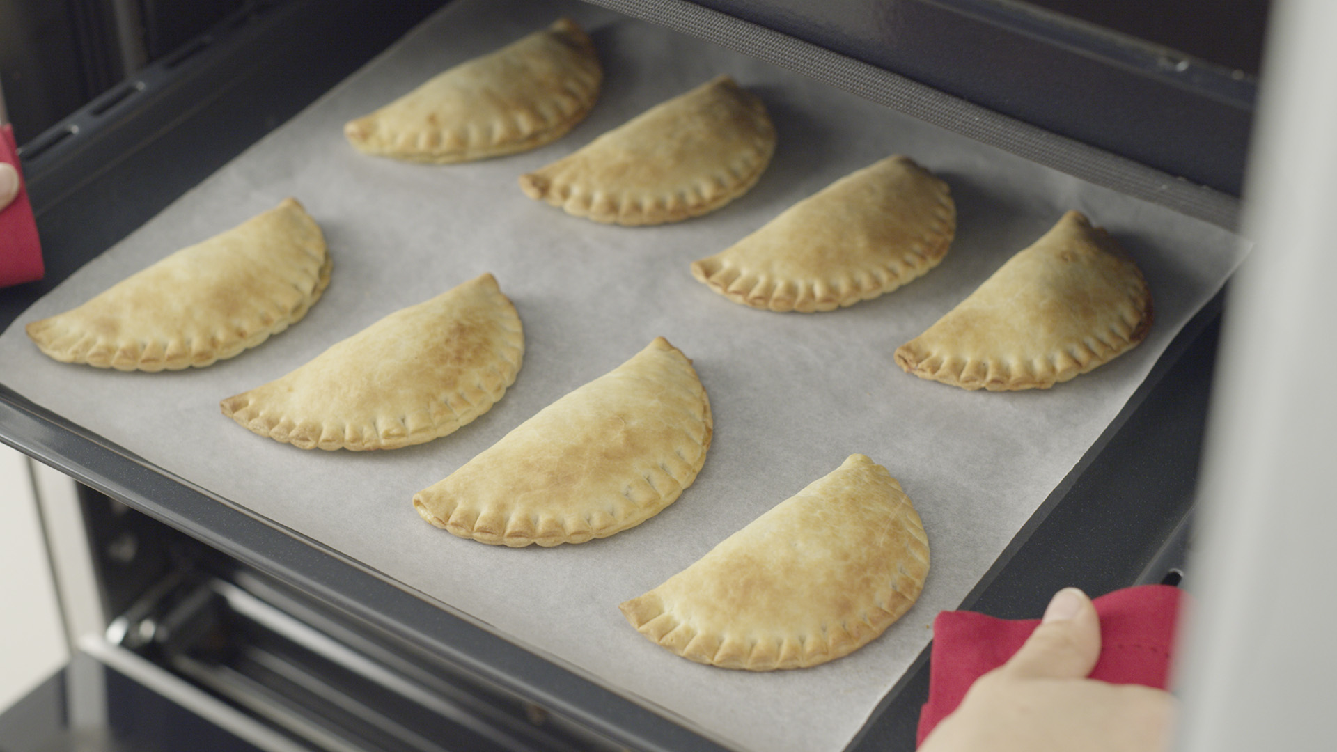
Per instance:
[[[337,740],[378,752],[620,749],[469,681],[432,653],[330,616],[234,559],[201,551],[167,585],[108,634],[158,670],[316,748]]]

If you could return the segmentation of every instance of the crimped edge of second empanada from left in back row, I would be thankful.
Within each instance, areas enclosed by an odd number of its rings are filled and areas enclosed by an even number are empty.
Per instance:
[[[762,173],[770,165],[770,158],[775,153],[775,126],[771,123],[761,98],[738,86],[733,76],[721,75],[703,86],[730,88],[746,108],[746,112],[751,115],[753,126],[758,131],[749,145],[750,150],[735,157],[729,165],[719,167],[705,185],[678,191],[677,195],[667,199],[663,197],[615,197],[598,189],[591,193],[575,193],[570,182],[560,179],[560,173],[566,163],[564,159],[559,159],[533,173],[520,175],[520,190],[529,198],[544,201],[572,217],[583,217],[604,225],[623,225],[628,227],[682,222],[683,219],[709,214],[730,201],[742,197],[757,185],[757,181],[761,179]],[[673,99],[656,107],[671,102]],[[652,110],[647,110],[644,114]],[[634,122],[635,119],[628,120],[619,127]]]

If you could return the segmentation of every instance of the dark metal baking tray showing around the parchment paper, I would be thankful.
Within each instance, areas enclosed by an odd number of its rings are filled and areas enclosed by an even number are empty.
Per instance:
[[[29,189],[49,272],[43,282],[0,293],[0,325],[356,70],[431,5],[418,3],[386,20],[382,4],[372,0],[281,3],[259,19],[221,29],[191,58],[176,60],[175,74],[151,68],[144,86],[124,99],[112,100],[119,96],[112,91],[76,114],[71,124],[84,123],[86,138],[41,154],[29,149]],[[965,605],[1034,617],[1064,585],[1100,594],[1136,581],[1189,507],[1210,388],[1214,314],[1215,308],[1209,309],[1175,340],[1128,408]],[[1209,333],[1197,336],[1203,328]],[[620,744],[718,749],[337,551],[166,475],[3,385],[0,440],[317,598],[333,613],[373,625],[479,682]],[[925,682],[921,660],[853,747],[912,748]]]

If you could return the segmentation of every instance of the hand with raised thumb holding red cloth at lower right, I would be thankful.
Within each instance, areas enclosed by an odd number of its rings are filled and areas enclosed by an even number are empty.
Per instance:
[[[1059,590],[1040,626],[981,676],[921,752],[1161,752],[1175,700],[1135,684],[1086,678],[1100,657],[1100,618],[1076,587]]]

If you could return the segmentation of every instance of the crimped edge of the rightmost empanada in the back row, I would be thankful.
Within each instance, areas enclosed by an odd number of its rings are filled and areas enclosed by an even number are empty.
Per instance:
[[[1128,274],[1126,292],[1127,306],[1122,310],[1123,329],[1111,325],[1106,332],[1070,343],[1067,348],[1048,357],[1035,357],[1011,363],[952,357],[949,353],[931,351],[916,337],[896,348],[896,364],[906,373],[920,379],[940,381],[952,387],[976,391],[1009,392],[1021,389],[1048,389],[1076,376],[1087,373],[1115,357],[1138,347],[1147,339],[1155,310],[1151,302],[1151,288],[1142,269],[1123,252],[1104,227],[1092,226],[1080,211],[1068,211],[1067,217],[1084,225],[1095,244],[1123,262]],[[955,309],[953,309],[955,310]],[[948,313],[948,316],[951,312]]]

